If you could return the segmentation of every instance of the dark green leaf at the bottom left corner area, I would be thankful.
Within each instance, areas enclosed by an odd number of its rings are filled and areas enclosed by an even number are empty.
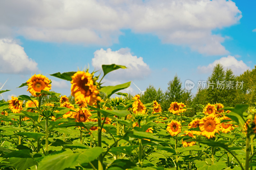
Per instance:
[[[26,170],[29,167],[36,165],[36,160],[33,158],[9,158],[9,162],[17,170]]]

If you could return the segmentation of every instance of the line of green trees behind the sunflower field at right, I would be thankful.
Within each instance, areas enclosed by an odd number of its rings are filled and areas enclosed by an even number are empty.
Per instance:
[[[234,107],[236,104],[255,106],[256,66],[235,76],[231,69],[225,70],[223,65],[217,63],[207,81],[200,83],[201,86],[195,84],[194,88],[197,88],[197,92],[193,95],[191,90],[182,87],[181,80],[176,74],[168,83],[165,92],[161,88],[156,90],[153,85],[149,85],[140,100],[144,104],[156,100],[161,104],[163,111],[167,111],[173,101],[183,102],[187,108],[192,108],[187,110],[187,116],[193,116],[201,111],[196,106],[198,104],[221,103],[225,107]]]

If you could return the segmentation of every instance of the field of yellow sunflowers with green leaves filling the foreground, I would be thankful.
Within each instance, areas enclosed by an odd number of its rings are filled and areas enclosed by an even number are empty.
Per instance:
[[[102,78],[125,68],[102,65]],[[1,100],[0,169],[256,169],[256,110],[249,105],[198,103],[201,112],[186,117],[191,108],[179,101],[162,111],[157,101],[143,104],[140,95],[118,92],[131,82],[103,86],[95,74],[51,75],[70,81],[75,103],[51,92],[41,74],[19,86],[30,96]]]

